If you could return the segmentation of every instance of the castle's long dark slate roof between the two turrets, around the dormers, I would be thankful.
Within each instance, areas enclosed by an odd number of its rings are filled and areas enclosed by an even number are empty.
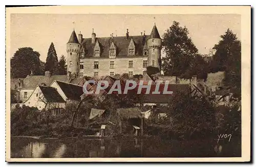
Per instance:
[[[96,38],[95,42],[92,43],[92,38],[83,38],[81,45],[84,47],[85,54],[84,57],[93,57],[94,55],[94,46],[96,41],[99,42],[100,45],[100,57],[109,57],[109,48],[114,41],[117,50],[116,57],[126,57],[128,56],[128,47],[131,39],[133,38],[135,43],[135,56],[143,55],[143,41],[146,41],[150,38],[150,35],[145,35],[145,39],[143,40],[143,36],[118,36],[118,37],[103,37]],[[132,56],[131,56],[132,57]]]

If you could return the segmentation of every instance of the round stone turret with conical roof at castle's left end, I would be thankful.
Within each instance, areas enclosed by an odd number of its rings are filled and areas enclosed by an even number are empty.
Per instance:
[[[67,43],[67,59],[68,59],[68,66],[67,66],[67,74],[71,74],[74,76],[78,75],[79,72],[79,52],[80,52],[80,43],[77,39],[75,30],[72,32],[69,41]]]

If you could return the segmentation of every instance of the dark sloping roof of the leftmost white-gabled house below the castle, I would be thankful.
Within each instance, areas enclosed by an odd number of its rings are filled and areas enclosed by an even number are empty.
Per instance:
[[[58,103],[65,103],[65,100],[60,96],[57,90],[54,87],[49,86],[39,86],[46,98],[47,102],[58,102]]]

